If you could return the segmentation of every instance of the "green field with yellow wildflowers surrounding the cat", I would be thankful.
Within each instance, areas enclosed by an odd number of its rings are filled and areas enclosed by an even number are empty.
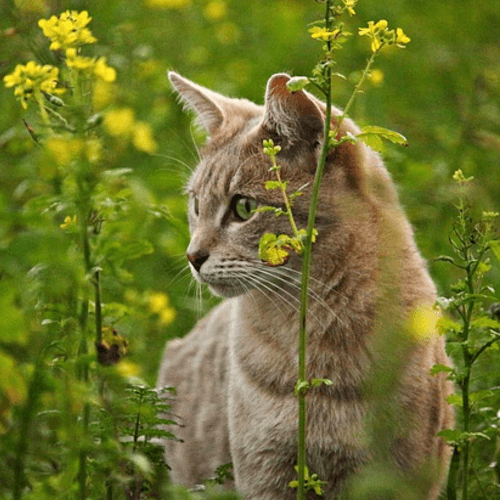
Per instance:
[[[324,3],[0,4],[0,500],[237,498],[171,486],[157,444],[165,342],[217,301],[185,259],[204,136],[166,75],[261,103],[273,73],[313,74],[336,37]],[[500,499],[500,4],[338,3],[332,101],[362,81],[349,115],[396,131],[371,139],[446,318],[415,321],[457,367],[443,498]]]

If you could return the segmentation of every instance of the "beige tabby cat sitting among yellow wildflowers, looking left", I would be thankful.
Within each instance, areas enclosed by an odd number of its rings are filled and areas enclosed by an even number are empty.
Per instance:
[[[172,412],[181,419],[174,432],[183,442],[166,443],[171,478],[193,486],[232,462],[230,486],[243,498],[293,499],[302,259],[292,253],[275,267],[259,259],[264,233],[291,229],[287,217],[255,208],[283,206],[279,190],[265,189],[275,177],[262,144],[273,139],[288,191],[303,193],[293,215],[306,227],[326,106],[290,92],[284,73],[269,79],[263,106],[169,78],[208,132],[187,184],[187,259],[197,281],[226,297],[168,343],[160,368],[158,387],[176,387]],[[335,125],[341,112],[332,111]],[[359,133],[349,118],[340,128],[347,133]],[[327,500],[377,460],[417,484],[411,498],[437,499],[450,449],[436,433],[453,425],[453,413],[450,382],[430,374],[450,363],[442,336],[426,328],[435,286],[387,170],[361,141],[329,152],[315,228],[307,373],[333,384],[306,396],[308,468],[326,482]],[[411,317],[423,319],[422,331],[418,320],[408,326]]]

